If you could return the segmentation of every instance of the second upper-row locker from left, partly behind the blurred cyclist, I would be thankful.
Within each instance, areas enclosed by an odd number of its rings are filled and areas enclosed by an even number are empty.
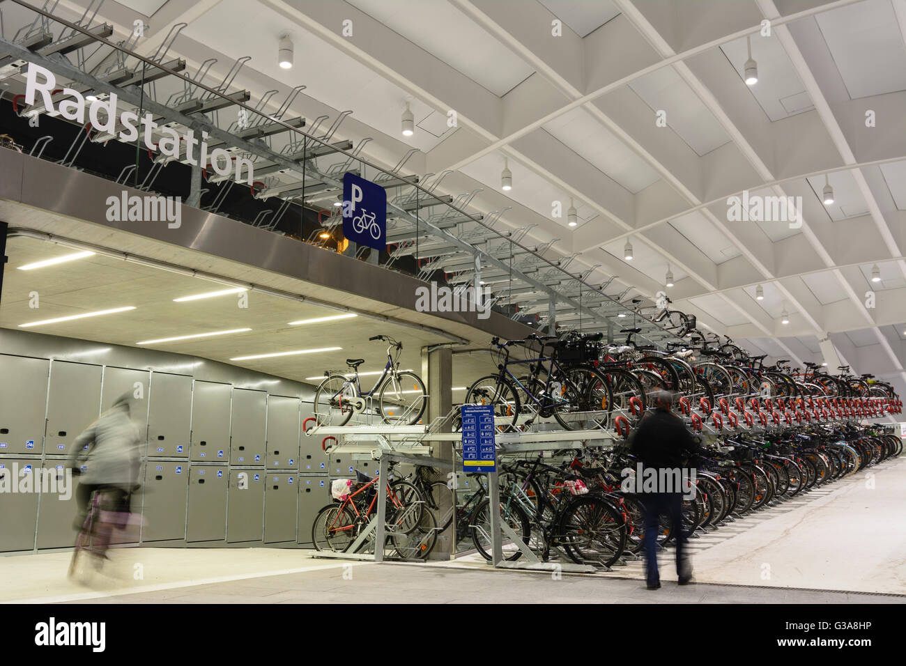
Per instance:
[[[44,453],[68,455],[101,413],[101,366],[52,361],[49,387]]]

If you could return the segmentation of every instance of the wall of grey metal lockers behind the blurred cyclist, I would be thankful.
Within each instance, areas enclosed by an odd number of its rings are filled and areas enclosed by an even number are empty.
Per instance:
[[[78,477],[61,492],[72,440],[124,391],[145,458],[132,501],[141,520],[120,534],[123,543],[304,547],[330,501],[330,478],[351,472],[351,456],[327,458],[320,439],[302,434],[313,412],[304,383],[5,329],[0,378],[0,479],[8,479],[0,480],[0,553],[72,546]],[[367,473],[375,463],[356,466]]]

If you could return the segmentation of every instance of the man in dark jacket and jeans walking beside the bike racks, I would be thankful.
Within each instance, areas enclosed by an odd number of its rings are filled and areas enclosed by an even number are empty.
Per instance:
[[[682,488],[660,487],[661,479],[669,478],[668,470],[681,470],[688,465],[689,458],[699,454],[699,445],[693,439],[686,425],[670,413],[672,394],[656,391],[651,394],[653,410],[641,420],[631,441],[632,454],[641,461],[643,469],[657,470],[659,480],[654,492],[641,494],[645,507],[645,570],[649,590],[660,587],[658,573],[657,543],[660,516],[670,516],[670,529],[676,535],[677,575],[679,584],[689,584],[692,566],[685,552],[686,533],[682,526]],[[681,474],[673,475],[676,478]],[[641,486],[637,478],[637,488]]]

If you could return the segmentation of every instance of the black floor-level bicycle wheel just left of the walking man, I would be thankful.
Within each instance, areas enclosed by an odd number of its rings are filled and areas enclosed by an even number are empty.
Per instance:
[[[626,549],[626,522],[602,498],[577,497],[560,518],[558,541],[576,563],[610,567]]]

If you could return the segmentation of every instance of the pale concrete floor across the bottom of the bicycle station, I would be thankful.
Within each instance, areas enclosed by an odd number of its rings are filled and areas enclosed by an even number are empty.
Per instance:
[[[495,571],[477,555],[376,565],[300,550],[125,548],[82,583],[66,578],[70,553],[4,557],[0,602],[903,603],[906,459],[872,474],[692,540],[698,584],[676,585],[672,553],[662,553],[656,592],[644,589],[640,562],[554,577]]]

